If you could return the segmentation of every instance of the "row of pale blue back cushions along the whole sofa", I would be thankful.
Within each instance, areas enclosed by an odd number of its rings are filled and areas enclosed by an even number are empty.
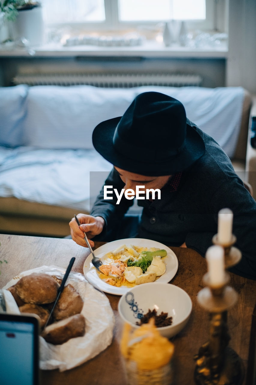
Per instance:
[[[92,149],[91,136],[96,125],[123,115],[132,100],[147,91],[162,92],[180,100],[187,117],[212,136],[232,159],[241,125],[242,87],[2,87],[0,144]]]

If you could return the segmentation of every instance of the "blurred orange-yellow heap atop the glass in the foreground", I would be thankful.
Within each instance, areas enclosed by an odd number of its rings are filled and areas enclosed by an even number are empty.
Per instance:
[[[134,372],[135,368],[141,371],[141,373],[136,373],[136,375],[143,377],[141,378],[141,382],[138,381],[138,383],[148,383],[148,371],[165,367],[165,365],[170,362],[173,352],[173,343],[171,343],[168,338],[160,335],[154,325],[153,319],[151,319],[149,323],[145,323],[139,328],[136,328],[133,332],[131,325],[125,323],[121,338],[121,353],[125,358],[128,372],[130,372],[130,370]],[[147,372],[145,373],[145,371]],[[150,378],[154,378],[154,374],[156,373],[150,374],[152,374]],[[163,381],[161,374],[165,375],[166,370],[164,370],[163,373],[158,372],[157,383],[167,383]],[[143,382],[142,379],[144,380]]]

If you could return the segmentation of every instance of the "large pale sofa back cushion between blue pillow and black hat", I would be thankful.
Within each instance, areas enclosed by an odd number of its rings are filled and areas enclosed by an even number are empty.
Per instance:
[[[96,125],[121,116],[133,100],[133,92],[73,87],[35,86],[29,90],[25,137],[28,146],[48,149],[92,149]]]

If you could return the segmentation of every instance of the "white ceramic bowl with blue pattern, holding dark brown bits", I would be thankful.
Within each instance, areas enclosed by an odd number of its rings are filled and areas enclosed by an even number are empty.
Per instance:
[[[121,296],[118,303],[118,311],[123,321],[138,328],[136,322],[140,321],[140,314],[146,314],[148,309],[156,309],[173,317],[170,326],[158,328],[161,335],[167,338],[179,333],[190,317],[192,302],[190,296],[183,289],[170,283],[143,283],[131,288]]]

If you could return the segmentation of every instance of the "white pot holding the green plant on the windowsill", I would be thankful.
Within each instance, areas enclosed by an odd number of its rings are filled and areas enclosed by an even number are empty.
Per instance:
[[[31,47],[44,42],[43,12],[40,5],[18,9],[15,22],[10,22],[12,40],[27,39]]]

